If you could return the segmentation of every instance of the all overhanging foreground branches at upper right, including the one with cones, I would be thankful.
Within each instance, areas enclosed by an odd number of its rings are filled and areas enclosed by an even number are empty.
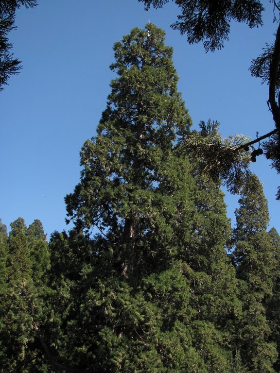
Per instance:
[[[138,0],[144,2],[145,9],[150,6],[161,8],[169,0]],[[280,11],[280,1],[272,1],[274,19],[277,21],[276,13]],[[204,42],[206,51],[214,51],[223,47],[224,41],[228,39],[230,22],[246,22],[249,27],[262,26],[262,12],[264,7],[259,0],[232,0],[232,1],[211,1],[211,0],[176,0],[176,5],[181,8],[178,21],[171,25],[178,29],[181,34],[187,34],[189,43]],[[280,26],[278,27],[275,42],[272,45],[266,44],[262,54],[252,60],[251,74],[262,78],[262,83],[269,85],[269,99],[267,104],[275,122],[275,128],[261,136],[261,139],[269,138],[263,144],[264,153],[267,159],[271,160],[272,167],[280,172]],[[209,134],[210,135],[210,134]],[[217,136],[215,136],[217,137]],[[248,145],[259,142],[256,138],[253,141],[246,141],[239,146],[228,146],[232,137],[222,139],[211,138],[206,143],[199,133],[192,133],[185,141],[186,148],[191,148],[196,153],[201,153],[204,158],[205,170],[214,177],[222,177],[230,192],[239,192],[244,186],[248,177],[249,159],[243,153],[248,151]],[[224,142],[224,144],[223,144]],[[255,163],[256,155],[252,154],[250,160]],[[239,159],[240,157],[240,159]],[[280,187],[278,188],[277,200],[280,200]]]

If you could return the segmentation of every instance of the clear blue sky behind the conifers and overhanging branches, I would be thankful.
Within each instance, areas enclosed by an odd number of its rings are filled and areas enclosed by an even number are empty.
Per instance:
[[[18,29],[10,33],[19,75],[0,92],[0,218],[7,226],[19,216],[29,225],[42,221],[45,232],[68,229],[64,197],[79,182],[79,152],[96,126],[110,93],[113,44],[148,20],[166,32],[174,48],[178,89],[193,119],[215,119],[222,136],[255,137],[271,131],[268,87],[250,76],[252,58],[273,41],[273,5],[265,1],[264,25],[249,29],[232,23],[225,48],[205,53],[169,26],[179,14],[170,2],[144,11],[137,0],[39,0],[35,9],[20,8]],[[270,226],[280,232],[275,200],[280,177],[260,156],[251,170],[261,179],[269,203]],[[234,224],[238,196],[226,195]]]

